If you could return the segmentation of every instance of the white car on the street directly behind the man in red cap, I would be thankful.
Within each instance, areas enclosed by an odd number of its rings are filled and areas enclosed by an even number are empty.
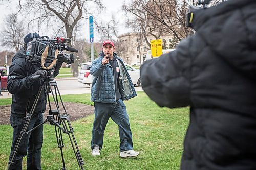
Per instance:
[[[78,82],[83,83],[83,84],[88,84],[89,86],[92,84],[92,75],[90,74],[90,68],[91,68],[92,63],[87,62],[87,63],[82,63],[81,69],[78,72]],[[129,75],[133,81],[134,85],[141,86],[141,81],[140,81],[140,70],[135,69],[133,66],[124,63],[127,71],[129,72]]]

